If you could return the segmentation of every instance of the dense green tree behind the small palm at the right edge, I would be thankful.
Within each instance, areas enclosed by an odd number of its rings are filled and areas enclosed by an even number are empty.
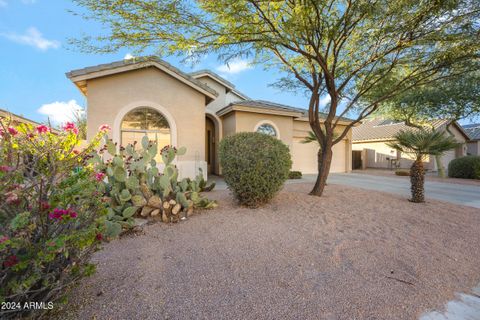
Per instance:
[[[462,74],[411,88],[381,104],[375,116],[405,122],[415,128],[433,129],[435,120],[458,121],[480,115],[480,73]],[[449,131],[449,125],[446,131]],[[445,169],[435,157],[440,177]]]

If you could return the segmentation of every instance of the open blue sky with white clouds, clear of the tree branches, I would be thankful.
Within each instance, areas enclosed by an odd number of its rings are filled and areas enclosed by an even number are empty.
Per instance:
[[[45,121],[46,114],[62,121],[77,105],[85,106],[85,97],[65,72],[122,60],[131,51],[126,48],[103,55],[77,52],[67,40],[84,33],[96,34],[99,25],[72,15],[69,9],[78,11],[70,1],[63,0],[0,0],[1,109],[36,121]],[[228,69],[214,57],[207,57],[194,68],[175,58],[165,60],[186,72],[204,68],[216,71],[253,99],[307,106],[303,95],[268,86],[278,74],[250,68],[244,61],[237,61]]]

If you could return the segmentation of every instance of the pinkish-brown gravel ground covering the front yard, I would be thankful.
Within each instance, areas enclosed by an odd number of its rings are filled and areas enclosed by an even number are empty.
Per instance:
[[[480,282],[480,210],[329,185],[105,244],[62,319],[416,319]]]

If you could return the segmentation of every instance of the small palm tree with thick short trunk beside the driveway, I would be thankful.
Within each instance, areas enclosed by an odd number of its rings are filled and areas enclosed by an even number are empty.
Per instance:
[[[456,148],[459,144],[454,137],[441,131],[418,129],[400,131],[394,138],[395,142],[388,143],[391,148],[414,156],[415,161],[410,167],[410,183],[412,202],[425,202],[425,170],[423,160],[429,155],[441,156],[446,151]]]

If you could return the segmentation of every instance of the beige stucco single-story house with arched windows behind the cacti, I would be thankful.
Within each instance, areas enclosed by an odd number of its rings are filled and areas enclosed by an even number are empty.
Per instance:
[[[292,170],[317,172],[317,145],[300,143],[310,131],[307,110],[250,100],[209,70],[186,74],[158,58],[141,58],[74,70],[67,77],[87,97],[87,139],[108,124],[120,144],[147,134],[160,146],[185,146],[187,153],[177,161],[182,176],[200,168],[220,174],[219,141],[245,131],[276,136],[290,147]],[[332,172],[350,171],[351,153],[349,132],[334,146]]]

